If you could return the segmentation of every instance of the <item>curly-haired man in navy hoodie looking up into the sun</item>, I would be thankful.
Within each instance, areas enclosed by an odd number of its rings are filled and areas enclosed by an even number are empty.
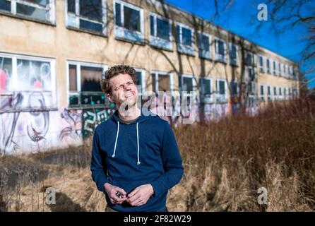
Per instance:
[[[90,166],[107,210],[167,211],[167,192],[184,172],[170,124],[138,108],[136,71],[130,66],[108,69],[101,86],[117,106],[95,129]]]

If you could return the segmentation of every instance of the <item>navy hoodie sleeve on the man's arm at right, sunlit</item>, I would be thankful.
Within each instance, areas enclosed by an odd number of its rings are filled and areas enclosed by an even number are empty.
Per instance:
[[[158,196],[178,184],[184,173],[182,157],[179,153],[177,141],[168,122],[165,122],[161,152],[165,172],[150,183],[154,190],[153,196]]]

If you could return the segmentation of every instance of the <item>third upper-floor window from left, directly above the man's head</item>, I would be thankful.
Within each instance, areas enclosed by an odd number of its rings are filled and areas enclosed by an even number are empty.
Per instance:
[[[123,40],[143,42],[143,9],[114,1],[115,35]]]

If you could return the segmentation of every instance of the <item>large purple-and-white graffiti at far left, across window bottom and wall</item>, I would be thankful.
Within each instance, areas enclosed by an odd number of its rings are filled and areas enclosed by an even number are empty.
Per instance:
[[[13,150],[18,143],[23,143],[23,139],[19,137],[25,134],[32,142],[41,141],[46,136],[49,129],[49,112],[43,110],[45,105],[45,96],[39,91],[1,96],[1,153],[5,154],[7,150]]]

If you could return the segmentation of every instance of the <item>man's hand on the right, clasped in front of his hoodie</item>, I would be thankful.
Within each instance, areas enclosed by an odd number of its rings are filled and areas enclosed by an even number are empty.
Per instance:
[[[131,191],[128,195],[127,202],[129,202],[131,206],[142,206],[147,203],[148,199],[153,194],[153,186],[151,184],[144,184]]]

